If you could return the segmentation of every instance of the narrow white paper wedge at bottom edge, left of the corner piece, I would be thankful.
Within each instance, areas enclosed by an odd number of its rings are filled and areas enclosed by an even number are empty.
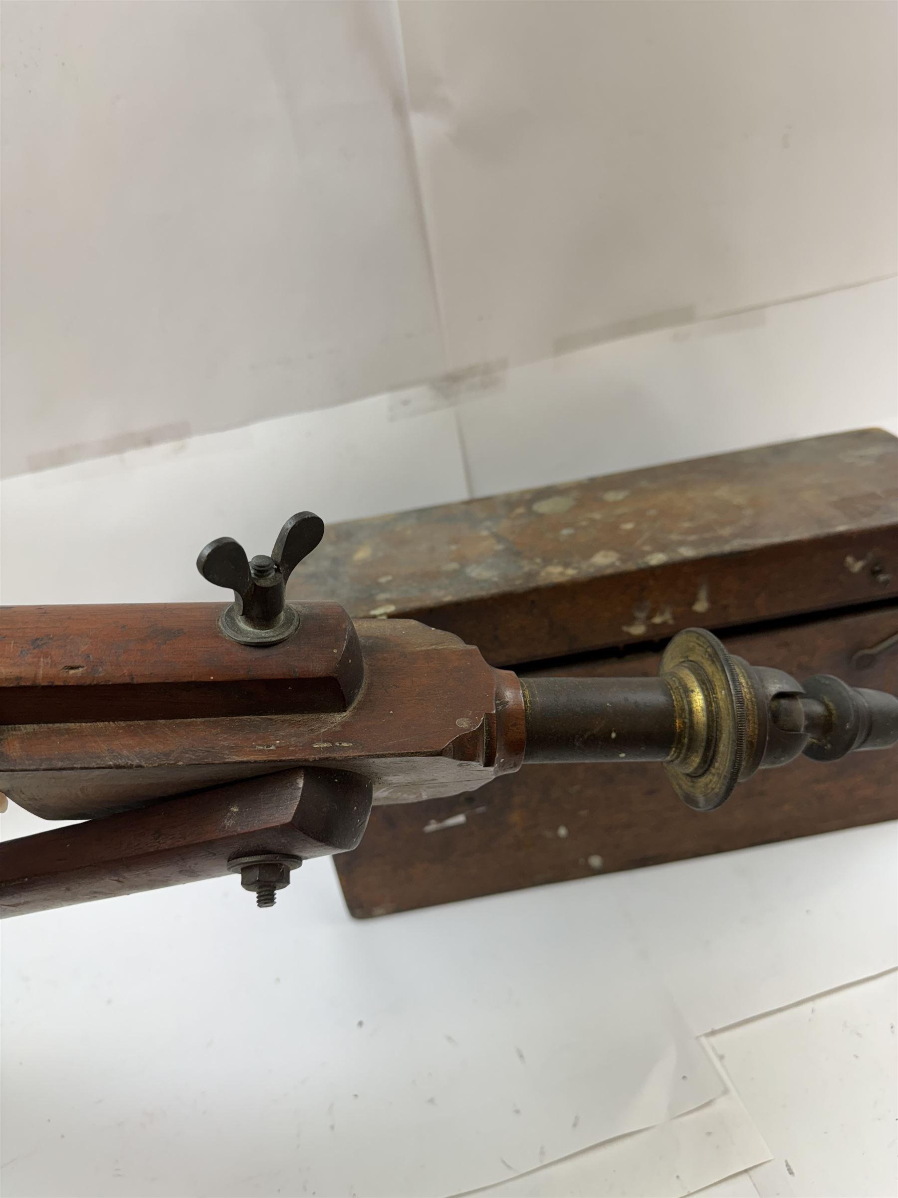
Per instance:
[[[681,1198],[769,1157],[748,1112],[727,1091],[697,1111],[483,1192],[491,1198]]]

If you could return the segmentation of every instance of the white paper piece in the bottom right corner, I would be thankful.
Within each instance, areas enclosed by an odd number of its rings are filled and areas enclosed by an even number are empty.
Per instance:
[[[708,1037],[777,1158],[764,1198],[896,1192],[897,1024],[892,970]]]

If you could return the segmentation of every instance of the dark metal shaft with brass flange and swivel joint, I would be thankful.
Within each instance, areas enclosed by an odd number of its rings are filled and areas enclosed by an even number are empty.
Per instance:
[[[697,811],[802,752],[837,761],[898,742],[894,695],[829,674],[802,686],[734,658],[698,628],[673,637],[657,678],[522,678],[521,688],[526,762],[661,761]]]

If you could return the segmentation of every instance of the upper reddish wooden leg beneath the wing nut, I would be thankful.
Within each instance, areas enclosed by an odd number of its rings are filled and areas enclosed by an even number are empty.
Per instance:
[[[0,607],[0,725],[344,712],[364,678],[339,604],[301,604],[265,648],[218,629],[226,604]]]

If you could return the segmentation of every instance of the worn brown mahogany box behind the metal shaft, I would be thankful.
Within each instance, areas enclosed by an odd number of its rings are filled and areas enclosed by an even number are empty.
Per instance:
[[[419,619],[522,674],[653,674],[700,625],[799,680],[898,691],[898,440],[868,429],[348,521],[295,580],[292,599]],[[893,754],[802,757],[700,813],[660,766],[524,766],[376,807],[336,870],[352,914],[382,915],[894,818],[896,769]]]

